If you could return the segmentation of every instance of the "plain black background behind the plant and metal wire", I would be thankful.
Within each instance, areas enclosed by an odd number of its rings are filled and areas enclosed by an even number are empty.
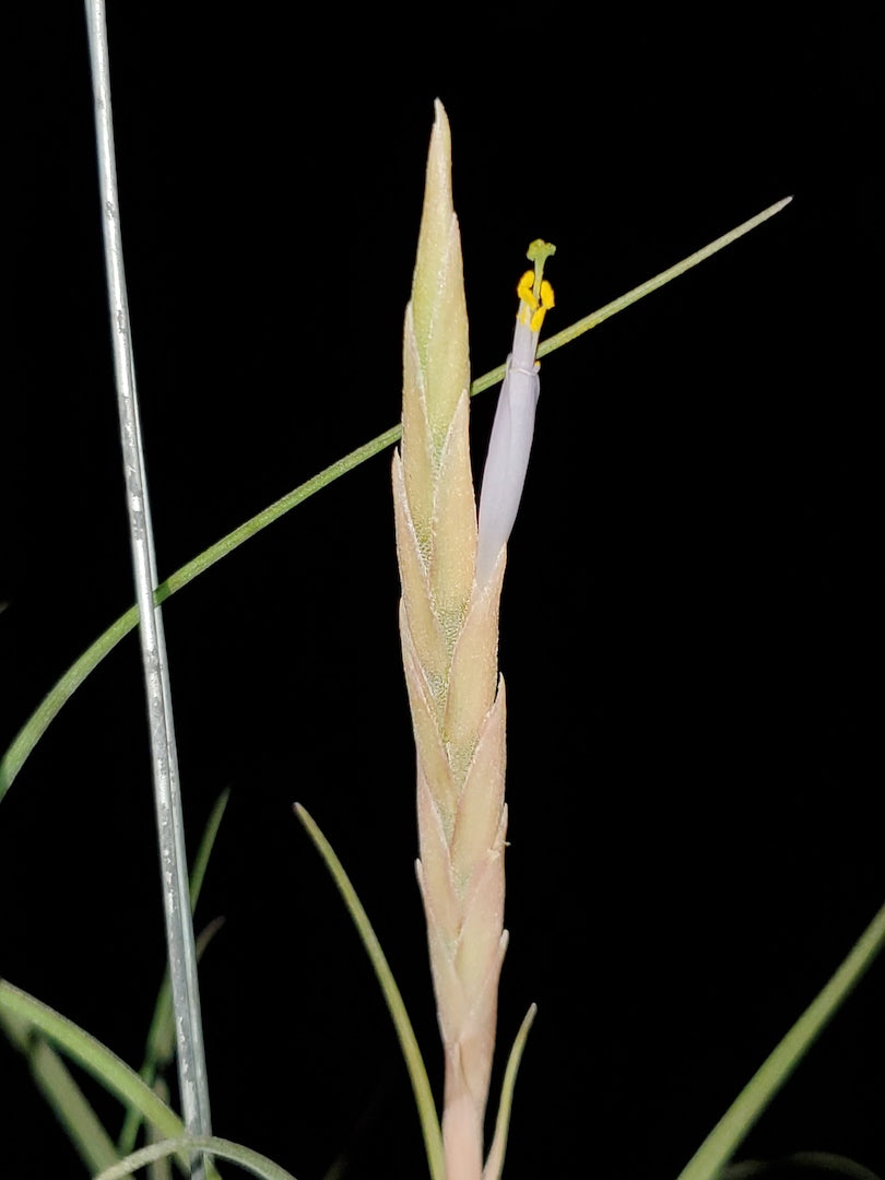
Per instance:
[[[110,7],[162,575],[396,420],[434,97],[474,374],[506,355],[533,237],[558,245],[553,332],[795,195],[544,362],[503,602],[499,1070],[539,1005],[506,1175],[675,1176],[885,899],[866,291],[881,30],[556,2],[295,24],[282,6]],[[132,601],[83,18],[15,19],[2,746]],[[473,406],[478,463],[493,406]],[[215,1129],[299,1180],[340,1150],[354,1178],[425,1165],[380,994],[294,800],[349,870],[441,1074],[388,479],[389,454],[373,459],[165,608],[191,847],[231,789],[198,912],[227,918],[202,972]],[[4,801],[0,898],[2,974],[137,1064],[163,935],[132,636]],[[884,992],[878,964],[743,1154],[885,1173]],[[84,1174],[5,1043],[0,1088],[2,1174]]]

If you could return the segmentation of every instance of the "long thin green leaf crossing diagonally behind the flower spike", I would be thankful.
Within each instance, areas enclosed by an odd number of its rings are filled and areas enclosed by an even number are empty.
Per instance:
[[[649,295],[660,287],[663,287],[663,284],[670,282],[670,280],[684,274],[684,271],[691,267],[696,267],[699,262],[703,262],[704,258],[710,257],[710,255],[715,254],[717,250],[729,245],[736,238],[741,237],[741,235],[749,232],[749,230],[761,224],[768,217],[773,217],[774,214],[779,212],[791,199],[791,197],[787,197],[784,201],[779,201],[776,204],[771,205],[755,217],[750,217],[749,221],[738,225],[722,237],[717,237],[715,242],[710,242],[701,250],[697,250],[695,254],[683,258],[682,262],[677,262],[675,267],[670,267],[668,270],[662,270],[661,274],[655,275],[653,278],[641,283],[638,287],[634,287],[632,290],[627,291],[627,294],[621,295],[610,303],[605,303],[604,307],[598,308],[596,312],[591,312],[590,315],[585,315],[570,327],[564,328],[556,335],[548,337],[548,340],[544,340],[538,347],[538,356],[546,356],[556,348],[562,348],[563,345],[570,343],[584,332],[589,332],[590,328],[595,328],[597,324],[608,320],[617,312],[622,312],[625,307],[629,307],[630,303],[635,303],[643,296]],[[505,372],[506,365],[499,365],[497,368],[490,369],[489,373],[484,373],[483,376],[477,378],[470,388],[471,396],[474,396],[484,389],[489,389],[493,385],[503,381]],[[228,553],[238,549],[243,542],[249,540],[250,537],[261,532],[262,529],[267,529],[269,524],[278,520],[280,517],[291,511],[291,509],[297,507],[299,504],[309,499],[315,492],[321,491],[323,487],[328,487],[329,484],[334,483],[341,476],[347,474],[348,471],[353,471],[367,459],[371,459],[373,455],[387,450],[388,446],[393,446],[394,442],[399,441],[401,434],[402,431],[399,425],[392,426],[382,434],[379,434],[378,438],[372,439],[371,442],[366,442],[362,446],[356,447],[355,451],[350,451],[349,454],[346,454],[342,459],[339,459],[336,463],[324,467],[312,479],[300,484],[291,492],[281,497],[278,500],[275,500],[274,504],[262,509],[261,512],[256,513],[249,520],[245,520],[237,529],[234,529],[234,531],[229,532],[227,537],[222,537],[221,540],[210,545],[209,549],[203,550],[202,553],[198,553],[179,570],[176,570],[175,573],[170,575],[165,582],[162,582],[153,594],[155,604],[159,605],[162,602],[165,602],[166,598],[170,598],[183,586],[188,585],[189,582],[192,582],[194,578],[210,569],[216,564],[216,562],[219,562],[222,557],[227,557]],[[111,623],[107,630],[104,631],[104,634],[100,635],[94,643],[86,648],[83,655],[79,656],[73,664],[71,664],[67,671],[59,681],[57,681],[37,709],[31,714],[0,761],[0,800],[15,781],[15,778],[21,771],[21,767],[25,765],[34,746],[46,733],[53,719],[61,710],[66,701],[73,696],[88,674],[98,667],[104,657],[112,651],[120,640],[137,624],[138,608],[130,607],[125,615],[120,615],[116,622]]]

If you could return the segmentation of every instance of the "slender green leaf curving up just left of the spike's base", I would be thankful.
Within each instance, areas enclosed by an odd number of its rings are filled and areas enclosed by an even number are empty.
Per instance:
[[[433,1180],[446,1180],[445,1158],[442,1153],[442,1134],[439,1129],[437,1107],[433,1101],[433,1093],[431,1090],[431,1083],[427,1079],[427,1070],[424,1064],[424,1058],[421,1057],[421,1050],[418,1047],[414,1029],[412,1028],[412,1022],[408,1018],[406,1005],[402,1002],[400,989],[396,986],[396,981],[393,978],[393,972],[391,971],[387,959],[385,958],[385,953],[381,950],[378,936],[372,929],[368,914],[362,907],[362,903],[356,896],[356,890],[350,884],[350,879],[345,872],[343,865],[335,856],[332,845],[301,804],[295,804],[295,814],[299,817],[308,835],[314,841],[316,851],[326,861],[326,867],[332,873],[332,878],[337,886],[339,893],[341,893],[341,897],[343,898],[347,911],[353,918],[354,925],[359,931],[362,945],[366,948],[366,953],[372,961],[372,966],[374,968],[378,982],[381,985],[381,991],[384,992],[385,1002],[387,1003],[387,1010],[389,1011],[391,1018],[393,1020],[396,1029],[396,1036],[399,1037],[400,1047],[402,1049],[402,1056],[406,1058],[406,1068],[408,1069],[408,1076],[412,1081],[412,1090],[415,1096],[418,1114],[421,1120],[421,1133],[424,1134],[424,1145],[427,1152],[427,1165],[430,1167],[431,1176]]]

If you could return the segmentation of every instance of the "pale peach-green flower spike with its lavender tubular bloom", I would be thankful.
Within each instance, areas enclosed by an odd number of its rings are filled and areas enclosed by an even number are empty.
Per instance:
[[[451,137],[440,103],[431,138],[412,301],[406,309],[402,448],[393,459],[400,631],[418,752],[418,879],[445,1050],[448,1180],[483,1169],[504,930],[505,694],[498,607],[506,540],[529,461],[535,354],[552,307],[544,258],[519,283],[513,352],[500,392],[477,525],[470,461],[470,362]],[[505,1134],[505,1128],[502,1134]]]

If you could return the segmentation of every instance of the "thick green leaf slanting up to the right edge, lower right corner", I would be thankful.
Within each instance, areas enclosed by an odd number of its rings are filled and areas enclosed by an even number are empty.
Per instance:
[[[715,1180],[883,944],[885,906],[866,927],[832,979],[824,985],[704,1139],[680,1173],[678,1180]]]

